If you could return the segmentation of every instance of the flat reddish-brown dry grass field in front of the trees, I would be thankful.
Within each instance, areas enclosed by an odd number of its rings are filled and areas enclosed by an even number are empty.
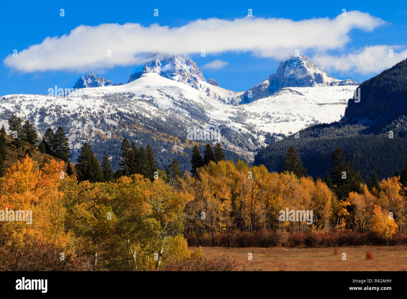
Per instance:
[[[334,254],[334,249],[338,254]],[[227,255],[237,270],[263,271],[407,271],[407,247],[358,246],[328,248],[203,247],[206,258]],[[365,260],[366,251],[373,260]],[[248,260],[252,253],[253,260]],[[346,260],[342,260],[346,253]]]

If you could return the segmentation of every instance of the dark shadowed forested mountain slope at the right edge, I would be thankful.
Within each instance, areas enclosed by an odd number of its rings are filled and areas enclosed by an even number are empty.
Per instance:
[[[289,136],[260,150],[255,165],[282,170],[290,145],[299,152],[303,165],[314,178],[332,167],[330,156],[339,146],[365,179],[373,171],[391,177],[407,161],[407,63],[394,67],[360,85],[360,102],[348,100],[344,118],[331,124],[303,129],[299,138]],[[390,133],[390,131],[392,131]]]

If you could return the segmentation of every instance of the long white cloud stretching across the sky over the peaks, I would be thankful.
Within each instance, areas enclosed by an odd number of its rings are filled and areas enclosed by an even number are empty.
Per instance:
[[[348,33],[359,28],[372,31],[385,24],[360,11],[330,19],[293,21],[284,18],[244,17],[235,20],[211,18],[170,28],[151,24],[100,24],[78,26],[61,37],[47,37],[40,44],[9,55],[4,64],[21,72],[46,70],[89,70],[135,65],[146,53],[193,54],[206,51],[252,52],[261,57],[291,57],[296,49],[317,51],[344,46]],[[107,51],[111,50],[111,57]]]

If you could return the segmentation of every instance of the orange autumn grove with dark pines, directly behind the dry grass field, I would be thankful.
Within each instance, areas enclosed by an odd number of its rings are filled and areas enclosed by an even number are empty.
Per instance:
[[[400,177],[379,182],[374,174],[365,184],[340,148],[331,158],[330,175],[326,172],[324,180],[316,181],[306,175],[294,148],[286,155],[282,173],[241,161],[212,162],[200,168],[198,177],[186,177],[182,185],[194,196],[185,209],[188,241],[216,246],[217,240],[233,240],[235,234],[245,232],[265,239],[273,234],[279,236],[279,244],[288,246],[287,234],[346,229],[375,236],[374,244],[388,244],[400,234],[405,242],[407,164]],[[312,210],[312,223],[281,221],[280,211],[287,209]],[[365,238],[365,244],[372,244],[369,240]]]

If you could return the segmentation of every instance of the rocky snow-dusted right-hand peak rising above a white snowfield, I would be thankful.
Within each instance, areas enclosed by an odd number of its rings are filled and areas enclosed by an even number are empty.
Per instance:
[[[280,62],[275,74],[243,94],[242,103],[273,95],[284,87],[322,87],[359,85],[351,80],[339,80],[317,67],[308,56],[300,55]]]

